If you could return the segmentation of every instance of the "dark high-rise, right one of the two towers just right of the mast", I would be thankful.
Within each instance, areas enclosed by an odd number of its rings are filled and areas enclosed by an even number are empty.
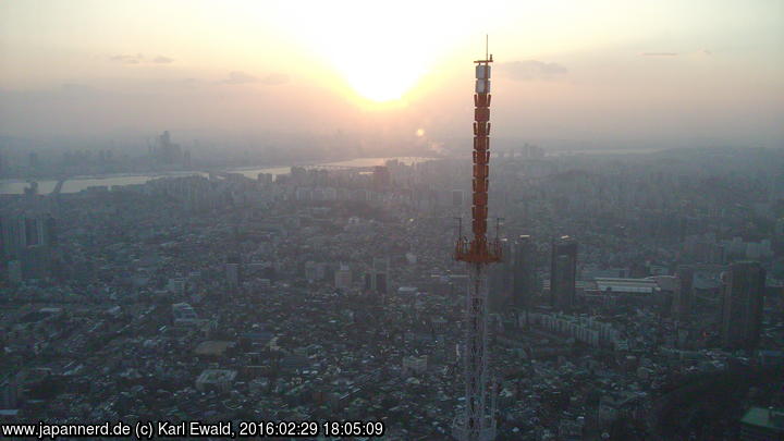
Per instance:
[[[561,236],[552,243],[550,261],[550,305],[572,309],[577,282],[577,241]]]

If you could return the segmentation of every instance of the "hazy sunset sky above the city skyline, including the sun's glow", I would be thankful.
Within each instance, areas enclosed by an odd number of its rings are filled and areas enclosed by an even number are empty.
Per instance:
[[[784,144],[784,1],[0,2],[0,134]]]

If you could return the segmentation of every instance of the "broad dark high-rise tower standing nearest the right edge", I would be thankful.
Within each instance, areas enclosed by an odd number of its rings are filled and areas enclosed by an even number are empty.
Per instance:
[[[765,271],[759,262],[738,262],[723,275],[722,344],[754,350],[762,328]]]

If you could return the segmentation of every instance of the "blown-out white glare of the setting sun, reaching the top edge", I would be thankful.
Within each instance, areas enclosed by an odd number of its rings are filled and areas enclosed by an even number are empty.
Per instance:
[[[287,23],[296,27],[303,47],[356,96],[394,105],[405,100],[433,66],[433,56],[454,40],[451,28],[441,25],[434,32],[432,17],[442,15],[442,8],[399,3],[314,2],[308,14],[296,11]]]

